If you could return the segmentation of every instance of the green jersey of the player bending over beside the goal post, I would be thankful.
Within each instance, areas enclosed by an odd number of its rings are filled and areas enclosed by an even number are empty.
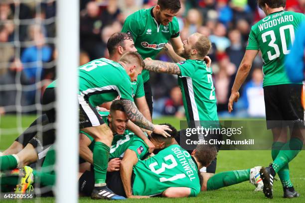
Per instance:
[[[53,88],[56,81],[48,88]],[[89,97],[93,106],[111,102],[116,97],[134,101],[130,77],[123,66],[105,58],[93,60],[79,67],[79,95]]]

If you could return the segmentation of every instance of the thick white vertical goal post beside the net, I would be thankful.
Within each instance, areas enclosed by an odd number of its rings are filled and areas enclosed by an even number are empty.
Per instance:
[[[57,0],[56,202],[78,202],[79,0]]]

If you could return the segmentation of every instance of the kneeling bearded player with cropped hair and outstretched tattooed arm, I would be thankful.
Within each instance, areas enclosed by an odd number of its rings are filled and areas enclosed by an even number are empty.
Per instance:
[[[145,60],[146,70],[157,73],[178,75],[178,84],[182,91],[183,105],[188,123],[211,121],[218,123],[215,88],[212,81],[212,69],[206,66],[205,56],[211,48],[207,37],[195,33],[183,41],[181,54],[186,61],[177,64],[155,60]],[[170,50],[168,50],[170,53]],[[172,51],[171,51],[172,52]],[[207,122],[201,123],[201,126]],[[208,123],[208,126],[210,123]],[[193,126],[188,126],[193,127]],[[183,143],[179,143],[183,146]],[[201,169],[204,180],[202,191],[206,190],[207,180],[215,174],[216,159],[208,168]]]

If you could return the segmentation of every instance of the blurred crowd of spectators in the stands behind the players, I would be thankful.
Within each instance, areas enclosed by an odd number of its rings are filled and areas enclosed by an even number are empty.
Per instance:
[[[22,1],[21,1],[22,2]],[[120,32],[126,17],[157,0],[80,0],[80,65],[108,57],[107,40]],[[199,32],[209,37],[220,117],[264,117],[263,61],[258,55],[233,114],[227,103],[251,26],[265,14],[256,0],[181,0],[180,37]],[[305,0],[287,0],[287,10],[305,12]],[[56,1],[0,1],[0,114],[33,112],[44,88],[55,79]],[[171,61],[161,51],[157,59]],[[61,67],[64,68],[64,67]],[[174,75],[151,73],[153,116],[184,116]],[[20,111],[20,109],[19,109]]]

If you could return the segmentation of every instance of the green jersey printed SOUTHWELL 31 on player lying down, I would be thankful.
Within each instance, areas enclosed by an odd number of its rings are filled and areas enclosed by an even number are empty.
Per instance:
[[[170,187],[190,188],[190,197],[200,192],[198,167],[179,145],[171,145],[133,168],[134,195],[154,196]]]

